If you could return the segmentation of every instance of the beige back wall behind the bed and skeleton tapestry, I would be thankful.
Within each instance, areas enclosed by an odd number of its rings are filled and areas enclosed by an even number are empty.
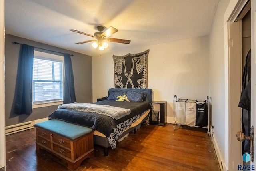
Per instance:
[[[208,36],[93,56],[93,102],[107,96],[108,89],[114,87],[113,55],[134,54],[147,49],[150,49],[148,88],[153,90],[153,100],[167,101],[167,121],[173,123],[174,95],[186,99],[206,99],[208,96]]]

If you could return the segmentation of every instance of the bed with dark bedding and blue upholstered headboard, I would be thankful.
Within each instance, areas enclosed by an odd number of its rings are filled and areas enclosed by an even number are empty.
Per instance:
[[[116,97],[124,94],[130,99],[130,102],[116,101]],[[92,104],[71,103],[60,105],[56,111],[48,116],[48,119],[60,119],[92,127],[95,129],[94,144],[104,147],[104,155],[108,156],[108,147],[115,149],[117,141],[127,136],[131,131],[136,133],[140,124],[149,118],[151,102],[152,89],[111,88],[108,90],[108,100]],[[80,109],[80,105],[86,105],[86,107],[82,106],[83,109]],[[94,113],[95,111],[90,108],[91,105],[93,109],[100,108],[101,111],[106,108],[107,114]],[[76,106],[76,109],[70,108],[70,106]],[[110,111],[108,111],[108,108]],[[122,114],[117,113],[119,109]],[[115,115],[109,115],[110,112],[115,113]]]

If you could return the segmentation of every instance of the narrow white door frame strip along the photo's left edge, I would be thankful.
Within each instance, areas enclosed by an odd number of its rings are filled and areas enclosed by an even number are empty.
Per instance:
[[[4,96],[4,0],[0,0],[0,168],[6,170]]]

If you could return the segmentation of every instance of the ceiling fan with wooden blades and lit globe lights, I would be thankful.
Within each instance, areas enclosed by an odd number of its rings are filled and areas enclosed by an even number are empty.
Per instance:
[[[116,38],[109,38],[112,34],[118,32],[118,30],[112,26],[110,26],[107,30],[105,30],[103,32],[103,30],[105,29],[103,26],[97,26],[96,27],[98,32],[95,32],[94,35],[91,34],[87,34],[84,32],[80,32],[78,30],[74,30],[74,29],[70,29],[70,31],[72,32],[76,32],[76,33],[80,33],[80,34],[84,34],[86,36],[90,36],[92,38],[94,38],[93,40],[87,40],[84,42],[78,42],[76,44],[84,44],[87,42],[93,42],[92,46],[94,48],[97,48],[99,50],[104,50],[108,47],[108,43],[107,42],[116,42],[116,43],[124,43],[124,44],[130,44],[130,40],[125,40],[125,39],[116,39]]]

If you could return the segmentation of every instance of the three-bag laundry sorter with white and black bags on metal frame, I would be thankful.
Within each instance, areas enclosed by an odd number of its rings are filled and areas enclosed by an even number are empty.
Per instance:
[[[206,100],[180,99],[176,95],[173,97],[173,129],[175,125],[188,125],[201,127],[209,131],[209,97]]]

